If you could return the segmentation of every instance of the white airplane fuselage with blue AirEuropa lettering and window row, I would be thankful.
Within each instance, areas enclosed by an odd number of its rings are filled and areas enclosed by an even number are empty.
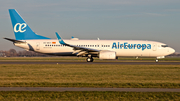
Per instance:
[[[16,46],[44,54],[70,56],[73,48],[59,44],[58,40],[22,40],[26,43],[15,43]],[[80,47],[116,52],[116,56],[164,57],[175,52],[163,46],[164,43],[142,40],[64,40],[66,43]],[[93,54],[93,53],[92,53]]]

